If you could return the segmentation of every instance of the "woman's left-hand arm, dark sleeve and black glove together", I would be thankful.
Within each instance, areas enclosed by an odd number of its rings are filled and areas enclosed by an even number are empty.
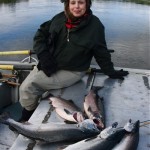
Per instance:
[[[33,43],[33,50],[39,59],[37,68],[43,70],[48,77],[57,71],[57,63],[51,53],[54,50],[54,42],[49,33],[50,25],[51,21],[47,21],[40,26]]]

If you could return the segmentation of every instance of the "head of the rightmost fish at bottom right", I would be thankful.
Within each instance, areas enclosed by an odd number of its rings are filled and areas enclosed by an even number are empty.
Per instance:
[[[130,119],[124,126],[124,129],[127,131],[127,132],[135,132],[136,130],[139,129],[139,124],[140,124],[140,121],[137,120],[136,122],[132,123],[132,120]]]

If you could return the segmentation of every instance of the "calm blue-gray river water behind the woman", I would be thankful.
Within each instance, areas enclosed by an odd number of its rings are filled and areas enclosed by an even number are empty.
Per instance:
[[[150,6],[93,0],[91,9],[105,25],[108,48],[115,50],[114,65],[150,69]],[[0,1],[0,51],[32,49],[39,25],[62,10],[60,0]],[[18,58],[0,56],[4,59]]]

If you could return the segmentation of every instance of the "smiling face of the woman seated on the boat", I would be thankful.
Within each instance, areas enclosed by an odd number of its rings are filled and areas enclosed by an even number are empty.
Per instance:
[[[69,10],[74,17],[81,17],[86,12],[86,0],[70,0]]]

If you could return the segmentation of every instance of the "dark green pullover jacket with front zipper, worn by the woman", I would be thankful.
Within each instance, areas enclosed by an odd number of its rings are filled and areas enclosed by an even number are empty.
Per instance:
[[[92,57],[102,71],[109,75],[114,71],[111,55],[107,50],[104,26],[91,12],[76,28],[68,30],[65,26],[64,12],[43,23],[34,37],[33,50],[38,54],[48,50],[49,35],[54,40],[53,57],[59,69],[85,71]]]

